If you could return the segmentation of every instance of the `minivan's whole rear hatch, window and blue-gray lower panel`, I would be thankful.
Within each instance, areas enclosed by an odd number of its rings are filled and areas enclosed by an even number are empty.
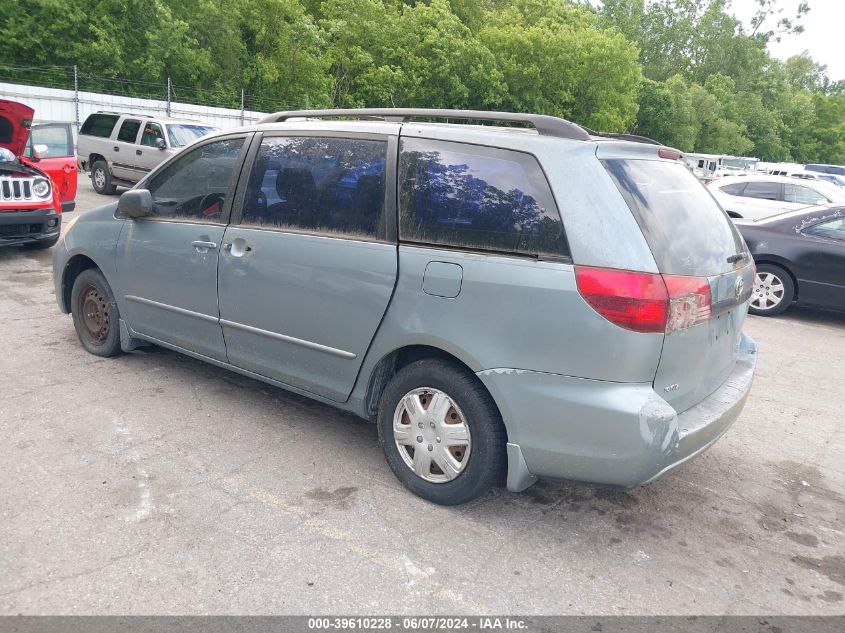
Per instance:
[[[709,314],[692,325],[667,324],[654,389],[683,412],[715,391],[739,352],[751,296],[751,255],[727,214],[680,162],[646,158],[602,161],[642,229],[658,270],[673,281],[709,286]]]

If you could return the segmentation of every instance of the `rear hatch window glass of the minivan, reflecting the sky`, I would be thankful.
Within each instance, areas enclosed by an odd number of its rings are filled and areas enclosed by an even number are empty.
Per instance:
[[[628,203],[660,272],[719,275],[745,244],[728,216],[682,164],[664,160],[602,161]]]

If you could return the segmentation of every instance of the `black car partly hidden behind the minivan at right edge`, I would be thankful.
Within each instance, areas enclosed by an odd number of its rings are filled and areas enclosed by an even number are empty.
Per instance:
[[[736,224],[757,262],[752,314],[772,316],[794,304],[845,310],[845,206]]]

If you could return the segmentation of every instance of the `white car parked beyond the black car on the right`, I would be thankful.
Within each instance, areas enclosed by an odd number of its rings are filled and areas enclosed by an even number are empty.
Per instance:
[[[789,176],[735,176],[707,187],[732,218],[760,220],[819,204],[845,204],[845,191],[819,180]]]

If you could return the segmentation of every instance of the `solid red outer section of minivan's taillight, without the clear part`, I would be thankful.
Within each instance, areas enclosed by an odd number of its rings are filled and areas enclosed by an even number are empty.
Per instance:
[[[663,332],[669,295],[660,275],[575,267],[578,292],[611,323],[635,332]]]

